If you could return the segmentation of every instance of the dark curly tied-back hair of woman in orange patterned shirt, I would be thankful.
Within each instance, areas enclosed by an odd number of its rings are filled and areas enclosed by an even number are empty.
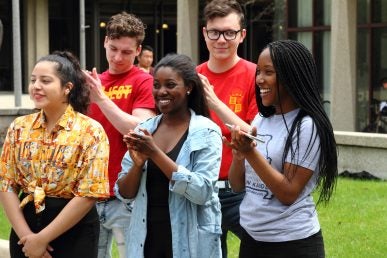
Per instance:
[[[90,90],[86,85],[78,58],[69,51],[54,51],[52,54],[40,58],[36,63],[48,61],[56,64],[56,75],[59,77],[61,87],[68,82],[73,87],[68,94],[68,103],[75,111],[86,114],[90,104]]]

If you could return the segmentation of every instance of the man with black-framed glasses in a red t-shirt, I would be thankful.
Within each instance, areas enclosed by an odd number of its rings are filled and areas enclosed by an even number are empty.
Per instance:
[[[256,65],[238,56],[237,50],[246,37],[244,14],[235,0],[213,0],[204,8],[203,36],[209,51],[209,60],[197,71],[202,77],[211,109],[211,118],[230,139],[225,123],[249,130],[257,114],[255,101]],[[235,116],[235,114],[237,116]],[[244,193],[232,192],[228,170],[232,161],[231,148],[223,147],[219,174],[219,199],[222,209],[222,254],[227,257],[227,232],[238,237],[243,230],[239,224],[239,205]]]

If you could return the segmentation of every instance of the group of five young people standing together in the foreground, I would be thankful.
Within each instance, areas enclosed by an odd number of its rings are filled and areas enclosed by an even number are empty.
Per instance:
[[[329,201],[337,151],[311,53],[280,40],[254,64],[237,1],[204,19],[199,66],[168,54],[141,71],[145,26],[127,13],[107,24],[107,71],[37,61],[40,111],[11,123],[0,159],[11,257],[111,257],[113,236],[120,257],[227,257],[228,231],[242,258],[325,256],[312,193]]]

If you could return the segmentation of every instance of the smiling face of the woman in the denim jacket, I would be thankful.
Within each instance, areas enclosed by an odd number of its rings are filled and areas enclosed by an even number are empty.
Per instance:
[[[154,74],[153,97],[163,114],[184,114],[188,109],[188,94],[191,87],[171,67],[160,67]]]

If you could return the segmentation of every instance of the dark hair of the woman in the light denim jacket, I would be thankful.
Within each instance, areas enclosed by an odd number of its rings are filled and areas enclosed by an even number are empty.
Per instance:
[[[154,74],[161,67],[170,67],[181,76],[186,86],[192,86],[191,93],[188,95],[188,107],[198,115],[210,117],[207,100],[204,96],[204,86],[191,58],[186,55],[171,53],[156,64]]]

